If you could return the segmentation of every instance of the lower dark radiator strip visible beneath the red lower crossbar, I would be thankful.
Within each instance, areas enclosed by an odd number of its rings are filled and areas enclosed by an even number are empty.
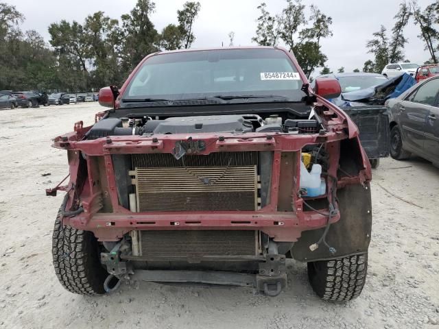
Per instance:
[[[139,231],[140,256],[200,257],[255,256],[259,253],[257,231],[173,230]]]

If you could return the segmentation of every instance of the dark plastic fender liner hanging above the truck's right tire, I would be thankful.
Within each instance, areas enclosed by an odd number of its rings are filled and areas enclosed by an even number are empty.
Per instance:
[[[324,228],[302,232],[302,236],[294,243],[291,254],[296,260],[309,262],[330,260],[368,252],[372,231],[372,200],[370,184],[347,185],[337,190],[340,220],[329,228],[327,242],[336,249],[335,254],[329,252],[324,244],[311,252],[309,246],[316,243],[324,232]]]

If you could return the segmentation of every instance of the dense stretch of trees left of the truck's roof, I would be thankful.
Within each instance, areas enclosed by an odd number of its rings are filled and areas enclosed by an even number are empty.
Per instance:
[[[138,0],[129,14],[112,19],[99,11],[83,23],[49,25],[49,45],[36,31],[23,32],[25,17],[14,5],[0,3],[0,90],[87,91],[121,85],[148,54],[189,48],[200,3],[188,1],[176,23],[161,32],[150,20],[152,0]]]

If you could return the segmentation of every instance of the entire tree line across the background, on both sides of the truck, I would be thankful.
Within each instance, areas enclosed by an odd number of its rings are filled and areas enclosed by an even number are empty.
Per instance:
[[[130,13],[119,19],[99,11],[88,15],[82,23],[52,23],[47,45],[38,32],[21,31],[25,17],[14,5],[0,3],[0,90],[87,91],[108,84],[120,86],[148,54],[191,47],[200,3],[187,1],[177,10],[175,22],[161,32],[150,19],[155,8],[153,0],[138,0]],[[266,3],[257,9],[260,15],[253,42],[264,46],[282,42],[294,52],[307,76],[320,67],[321,74],[331,72],[321,45],[324,38],[333,36],[331,16],[316,5],[307,7],[301,0],[286,0],[285,8],[277,14],[270,14]],[[426,62],[438,62],[439,0],[425,8],[411,0],[399,5],[390,32],[381,25],[366,42],[373,58],[364,63],[362,71],[381,73],[390,62],[408,61],[404,29],[410,21],[418,27],[418,38],[429,53]],[[233,45],[235,33],[230,32],[228,38],[229,45]],[[344,67],[337,71],[344,72]]]

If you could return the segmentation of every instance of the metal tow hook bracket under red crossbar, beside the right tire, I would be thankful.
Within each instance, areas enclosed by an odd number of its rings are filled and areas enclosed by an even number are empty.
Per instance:
[[[265,295],[276,297],[287,287],[287,267],[285,255],[268,254],[263,263],[259,263],[259,273],[256,276],[257,289]]]

